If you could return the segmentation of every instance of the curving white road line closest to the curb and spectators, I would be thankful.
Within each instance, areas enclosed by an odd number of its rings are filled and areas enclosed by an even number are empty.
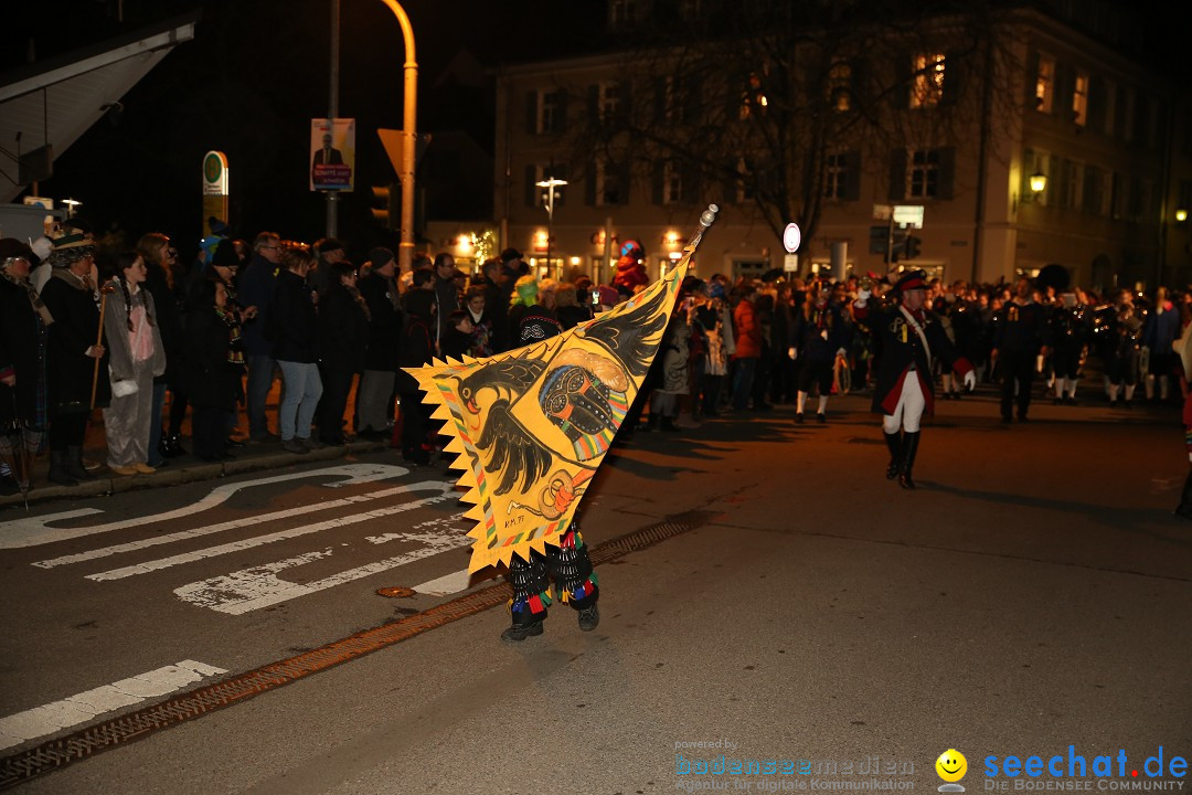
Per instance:
[[[403,474],[409,473],[409,470],[404,466],[393,466],[390,464],[344,464],[343,466],[331,466],[323,470],[311,470],[310,472],[288,472],[286,474],[275,474],[268,478],[256,478],[255,480],[243,480],[241,483],[229,483],[222,486],[217,486],[207,493],[206,497],[199,499],[198,502],[191,503],[190,505],[182,505],[176,510],[167,511],[164,514],[150,514],[148,516],[138,516],[135,518],[125,518],[119,522],[108,522],[107,524],[92,524],[91,527],[45,527],[49,522],[57,522],[67,518],[74,518],[77,516],[87,516],[89,514],[103,513],[93,508],[86,508],[76,511],[67,511],[63,514],[50,514],[49,516],[38,516],[33,518],[19,518],[12,522],[0,522],[0,549],[15,549],[19,547],[36,547],[42,544],[54,544],[55,541],[67,541],[69,539],[77,539],[85,535],[95,535],[97,533],[107,533],[110,530],[120,530],[129,527],[138,527],[141,524],[154,524],[156,522],[168,522],[170,520],[181,518],[184,516],[190,516],[192,514],[198,514],[200,511],[210,510],[217,505],[222,505],[237,491],[244,489],[252,489],[253,486],[263,486],[271,483],[284,483],[286,480],[299,480],[303,478],[315,478],[315,477],[346,477],[347,480],[341,483],[329,483],[325,484],[333,487],[346,486],[354,483],[372,483],[373,480],[386,480],[389,478],[399,478]]]

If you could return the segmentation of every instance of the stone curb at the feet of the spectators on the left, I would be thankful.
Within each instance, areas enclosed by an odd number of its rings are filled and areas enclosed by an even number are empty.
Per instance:
[[[246,472],[259,472],[261,470],[277,470],[303,461],[333,461],[339,458],[347,458],[362,453],[378,453],[390,449],[384,442],[352,442],[342,447],[321,447],[312,449],[305,455],[298,453],[269,452],[262,455],[237,458],[231,461],[219,464],[204,464],[195,461],[187,466],[168,466],[153,474],[135,474],[132,477],[119,477],[108,474],[99,476],[97,480],[87,480],[77,486],[60,486],[54,484],[41,485],[35,482],[33,489],[29,492],[29,504],[51,502],[55,499],[80,499],[83,497],[106,497],[113,493],[126,491],[138,491],[141,489],[153,489],[157,486],[176,486],[198,480],[213,480],[226,478]],[[106,468],[106,467],[105,467]],[[44,473],[41,473],[44,478]],[[0,497],[0,511],[8,508],[24,507],[25,498],[18,495]]]

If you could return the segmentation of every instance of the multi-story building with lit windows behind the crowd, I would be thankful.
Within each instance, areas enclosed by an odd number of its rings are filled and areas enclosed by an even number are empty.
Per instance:
[[[670,12],[699,15],[709,5]],[[997,25],[979,31],[983,39],[957,35],[949,20],[913,37],[871,25],[828,60],[822,42],[802,37],[795,49],[815,52],[787,58],[786,74],[766,55],[743,72],[734,52],[715,74],[690,52],[640,48],[502,68],[502,244],[526,251],[544,274],[607,280],[620,244],[633,238],[658,275],[715,203],[721,213],[697,256],[701,275],[789,271],[787,222],[805,226],[794,265],[802,275],[830,266],[883,273],[890,235],[876,218],[883,206],[918,205],[911,262],[949,281],[1012,280],[1050,263],[1101,290],[1187,278],[1187,222],[1177,221],[1177,210],[1192,209],[1187,107],[1175,106],[1161,72],[1128,55],[1141,41],[1115,6],[1085,4],[1097,13],[1084,13],[1079,27],[1066,21],[1068,5],[1002,8]],[[652,13],[648,4],[614,1],[609,24],[642,13]],[[731,36],[708,41],[701,46],[713,60],[733,48]],[[777,143],[732,133],[771,110],[777,119],[783,98],[794,97],[786,124],[769,129]],[[834,114],[836,126],[817,126],[812,113]],[[619,132],[621,123],[633,132]],[[676,129],[697,133],[651,133]],[[808,142],[817,130],[828,139]],[[789,151],[775,154],[788,137]],[[714,142],[714,155],[691,151],[701,141]],[[733,141],[741,142],[735,159]],[[548,210],[538,184],[551,178],[566,185]],[[791,200],[766,206],[758,192],[768,190]],[[803,217],[782,217],[787,207]]]

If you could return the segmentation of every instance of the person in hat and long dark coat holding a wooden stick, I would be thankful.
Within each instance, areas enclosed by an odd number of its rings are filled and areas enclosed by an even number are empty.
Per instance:
[[[63,486],[95,479],[82,462],[87,417],[94,406],[107,405],[111,395],[106,378],[107,348],[99,325],[98,302],[101,299],[95,292],[94,253],[89,235],[74,228],[60,230],[49,256],[50,279],[42,291],[42,300],[55,321],[49,331],[46,359],[50,480]],[[101,374],[98,379],[97,360]]]

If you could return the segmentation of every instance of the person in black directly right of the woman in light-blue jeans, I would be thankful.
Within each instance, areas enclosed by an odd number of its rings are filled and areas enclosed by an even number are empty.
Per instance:
[[[368,305],[356,290],[360,272],[347,260],[329,266],[329,285],[318,302],[318,371],[323,399],[318,404],[318,441],[347,443],[343,410],[352,379],[365,371],[368,346]]]

